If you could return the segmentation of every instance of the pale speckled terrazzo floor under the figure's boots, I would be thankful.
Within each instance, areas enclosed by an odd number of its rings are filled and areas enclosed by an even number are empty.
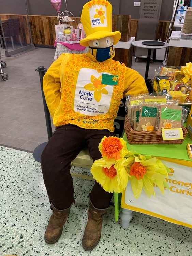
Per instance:
[[[75,172],[88,170],[75,168]],[[81,239],[93,182],[73,181],[76,204],[60,240],[47,245],[43,237],[51,210],[40,163],[31,153],[0,146],[0,256],[192,255],[191,229],[134,213],[130,227],[124,230],[114,222],[112,207],[104,218],[100,244],[85,252]]]

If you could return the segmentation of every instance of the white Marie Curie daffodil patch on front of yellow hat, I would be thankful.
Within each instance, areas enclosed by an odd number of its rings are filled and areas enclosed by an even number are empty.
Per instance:
[[[104,5],[93,5],[89,8],[91,27],[107,27],[107,8]]]

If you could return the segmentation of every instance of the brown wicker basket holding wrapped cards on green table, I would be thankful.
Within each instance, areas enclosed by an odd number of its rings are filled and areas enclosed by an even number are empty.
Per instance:
[[[163,141],[161,131],[134,131],[130,125],[129,118],[125,117],[125,132],[129,144],[182,144],[184,140]],[[183,137],[187,134],[186,128],[183,129]]]

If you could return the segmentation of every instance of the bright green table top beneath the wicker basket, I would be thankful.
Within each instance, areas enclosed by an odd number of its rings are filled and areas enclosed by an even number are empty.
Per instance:
[[[127,141],[125,133],[123,139]],[[130,151],[133,150],[142,155],[152,155],[156,157],[167,157],[178,160],[192,161],[189,159],[187,154],[186,145],[188,143],[192,144],[192,141],[187,134],[183,144],[130,145],[127,142],[127,148]]]

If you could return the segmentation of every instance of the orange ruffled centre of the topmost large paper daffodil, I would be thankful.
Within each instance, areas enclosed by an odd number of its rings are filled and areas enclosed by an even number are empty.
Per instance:
[[[102,156],[107,156],[108,159],[120,159],[120,151],[123,145],[117,137],[108,137],[102,142]]]

